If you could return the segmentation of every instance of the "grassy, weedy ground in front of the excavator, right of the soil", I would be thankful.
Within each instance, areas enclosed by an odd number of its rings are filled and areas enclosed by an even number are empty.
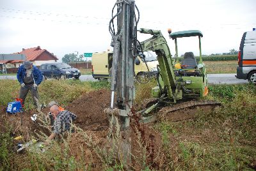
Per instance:
[[[222,107],[198,110],[196,118],[178,123],[160,122],[168,144],[170,170],[253,170],[256,167],[256,89],[254,85],[209,85],[208,100]],[[163,127],[164,126],[164,127]],[[168,138],[166,135],[172,138]],[[173,133],[170,130],[175,130]],[[176,144],[176,145],[175,145]]]

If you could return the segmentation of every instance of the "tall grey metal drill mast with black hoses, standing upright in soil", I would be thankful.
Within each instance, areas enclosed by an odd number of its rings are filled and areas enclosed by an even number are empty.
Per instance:
[[[109,22],[112,35],[113,64],[111,73],[111,109],[119,110],[122,130],[129,128],[128,113],[134,99],[134,40],[136,40],[136,17],[134,0],[117,0],[117,13]],[[115,8],[114,6],[114,8]],[[113,20],[117,17],[116,33]],[[116,100],[114,98],[116,92]]]

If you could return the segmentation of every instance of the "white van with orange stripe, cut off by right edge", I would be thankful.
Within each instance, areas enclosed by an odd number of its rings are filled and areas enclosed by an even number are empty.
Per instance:
[[[248,79],[256,84],[256,31],[247,31],[243,34],[239,52],[236,78]]]

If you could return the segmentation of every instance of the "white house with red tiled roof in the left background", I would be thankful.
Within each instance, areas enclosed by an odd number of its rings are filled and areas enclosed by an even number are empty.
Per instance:
[[[48,50],[38,47],[33,48],[22,48],[21,52],[13,54],[25,54],[26,61],[31,61],[33,65],[40,66],[44,63],[54,63],[58,60],[54,54],[50,53]],[[0,63],[5,63],[6,68],[19,68],[23,61],[21,60],[12,60],[12,61],[0,61]]]

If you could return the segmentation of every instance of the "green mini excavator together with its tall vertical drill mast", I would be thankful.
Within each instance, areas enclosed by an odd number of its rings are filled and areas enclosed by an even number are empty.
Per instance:
[[[114,15],[115,8],[117,12]],[[152,89],[154,103],[150,101],[152,105],[141,111],[144,118],[143,123],[156,120],[156,117],[154,119],[148,117],[149,119],[147,119],[147,115],[156,108],[180,103],[188,98],[202,98],[208,93],[205,64],[202,61],[201,38],[203,34],[201,31],[189,30],[172,33],[169,29],[169,36],[175,41],[176,54],[175,57],[172,57],[170,48],[161,31],[137,29],[139,19],[140,12],[134,0],[117,0],[112,10],[112,19],[109,22],[113,63],[111,105],[108,112],[106,112],[120,116],[123,130],[129,128],[129,113],[131,113],[132,100],[135,96],[134,59],[136,56],[143,57],[143,52],[156,52],[159,62],[157,66],[157,86]],[[114,21],[117,24],[114,24]],[[137,40],[137,33],[150,34],[152,37],[140,42]],[[191,36],[198,37],[200,59],[196,63],[193,52],[186,52],[182,63],[178,63],[177,38]],[[209,102],[193,103],[193,106],[196,105],[209,105]]]

